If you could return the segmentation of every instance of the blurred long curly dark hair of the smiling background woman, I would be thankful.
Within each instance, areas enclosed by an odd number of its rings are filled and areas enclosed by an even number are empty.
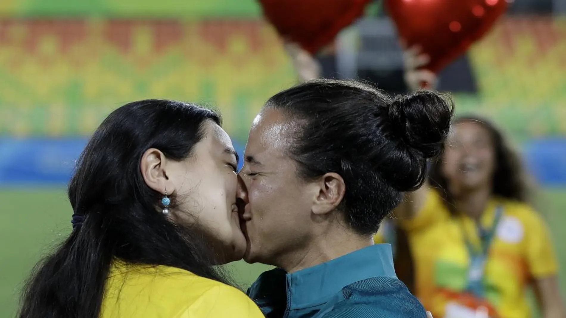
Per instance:
[[[518,202],[529,201],[529,187],[524,169],[518,154],[508,145],[503,133],[489,120],[478,116],[457,117],[454,123],[473,122],[481,125],[491,135],[495,151],[495,171],[491,178],[491,194],[495,197],[511,199]],[[433,188],[439,191],[444,202],[453,211],[454,198],[448,190],[448,180],[442,175],[442,160],[431,164],[428,180]]]

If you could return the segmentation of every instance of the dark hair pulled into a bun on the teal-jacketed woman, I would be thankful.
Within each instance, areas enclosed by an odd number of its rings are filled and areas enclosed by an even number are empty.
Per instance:
[[[289,154],[302,178],[344,178],[339,210],[362,235],[378,231],[402,192],[423,184],[427,158],[440,154],[453,114],[451,99],[435,92],[391,99],[363,82],[339,80],[297,85],[265,107],[294,119]]]

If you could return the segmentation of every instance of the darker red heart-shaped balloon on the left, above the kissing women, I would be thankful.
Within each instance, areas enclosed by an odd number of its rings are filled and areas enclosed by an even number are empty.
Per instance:
[[[315,54],[363,14],[372,0],[259,0],[281,37]]]

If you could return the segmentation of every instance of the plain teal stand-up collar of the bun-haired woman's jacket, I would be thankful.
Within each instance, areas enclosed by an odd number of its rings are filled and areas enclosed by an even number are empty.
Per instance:
[[[319,306],[342,288],[371,277],[396,277],[391,245],[376,244],[286,274],[290,310]]]

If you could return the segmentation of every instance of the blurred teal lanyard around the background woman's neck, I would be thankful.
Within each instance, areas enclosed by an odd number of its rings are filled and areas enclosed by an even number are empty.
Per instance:
[[[470,256],[470,264],[468,268],[468,284],[466,285],[466,291],[475,295],[476,297],[483,298],[485,294],[485,289],[483,286],[483,275],[486,269],[486,260],[489,254],[491,242],[495,237],[495,231],[503,215],[503,207],[498,206],[495,210],[495,216],[493,225],[490,229],[484,229],[481,225],[477,225],[478,236],[481,241],[481,250],[478,251],[474,248],[471,243],[468,232],[462,222],[462,231],[465,236],[466,247],[468,248],[468,253]]]

